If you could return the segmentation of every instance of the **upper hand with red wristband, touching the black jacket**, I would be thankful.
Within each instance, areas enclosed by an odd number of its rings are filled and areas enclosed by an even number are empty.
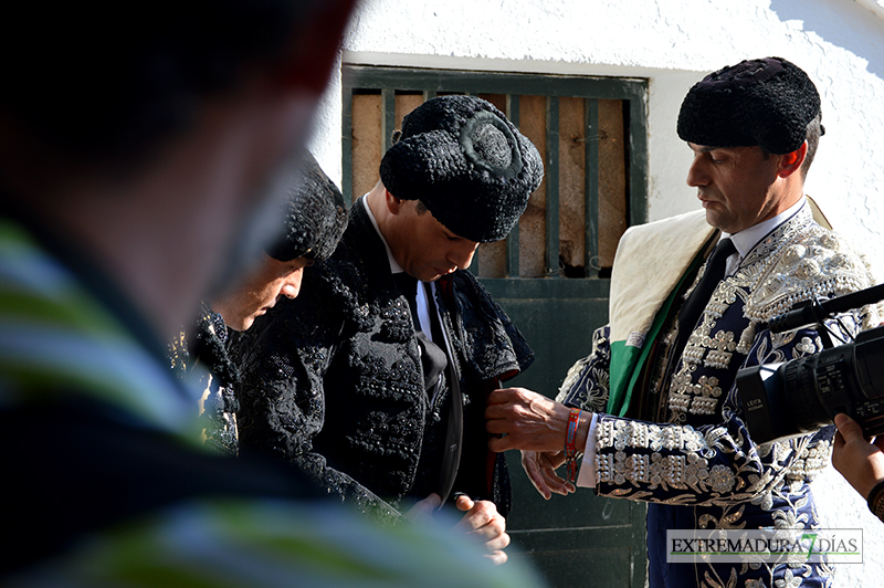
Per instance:
[[[525,388],[505,388],[488,395],[485,409],[485,428],[493,434],[488,442],[492,451],[509,449],[557,453],[565,449],[570,409]],[[587,444],[589,412],[583,412],[577,430],[575,445],[582,451]]]

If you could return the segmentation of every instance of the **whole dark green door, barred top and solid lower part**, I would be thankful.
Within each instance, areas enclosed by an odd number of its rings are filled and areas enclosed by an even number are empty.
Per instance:
[[[535,350],[509,386],[555,397],[568,368],[608,319],[613,252],[645,222],[644,80],[343,66],[343,183],[355,200],[377,181],[381,155],[406,113],[446,93],[495,104],[538,147],[545,179],[505,242],[483,244],[471,271]],[[509,552],[550,587],[639,587],[645,578],[644,505],[590,489],[544,501],[507,454],[513,480]]]

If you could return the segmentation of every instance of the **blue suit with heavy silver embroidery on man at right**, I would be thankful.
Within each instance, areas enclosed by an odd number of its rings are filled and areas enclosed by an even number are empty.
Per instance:
[[[703,587],[829,585],[832,570],[825,564],[698,563],[683,565],[693,569],[678,575],[660,552],[665,538],[660,525],[696,529],[819,526],[809,483],[829,462],[834,429],[756,444],[743,420],[736,372],[820,351],[822,340],[814,328],[772,334],[766,323],[798,302],[840,296],[872,284],[862,256],[817,224],[806,207],[762,239],[737,271],[718,284],[681,357],[669,357],[677,335],[674,315],[656,342],[644,343],[659,345],[660,353],[648,368],[646,387],[633,402],[652,410],[642,420],[599,416],[596,492],[652,503],[651,586],[657,580],[669,586],[676,577]],[[840,318],[851,333],[880,322],[875,307]],[[609,327],[604,326],[593,336],[592,354],[571,368],[559,401],[602,412],[610,357]]]

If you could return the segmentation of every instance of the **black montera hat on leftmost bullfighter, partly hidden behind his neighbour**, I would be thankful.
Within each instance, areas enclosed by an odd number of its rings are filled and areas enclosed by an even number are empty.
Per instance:
[[[349,213],[337,186],[305,151],[301,175],[283,202],[280,239],[266,249],[278,261],[328,259],[347,228]]]

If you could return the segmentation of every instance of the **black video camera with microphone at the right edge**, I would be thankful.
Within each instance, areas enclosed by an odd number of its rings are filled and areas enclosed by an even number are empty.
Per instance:
[[[823,321],[884,300],[884,284],[825,302],[802,303],[768,324],[772,333],[820,325],[822,351],[737,372],[746,427],[758,444],[810,433],[844,412],[866,437],[884,434],[884,326],[833,347]]]

